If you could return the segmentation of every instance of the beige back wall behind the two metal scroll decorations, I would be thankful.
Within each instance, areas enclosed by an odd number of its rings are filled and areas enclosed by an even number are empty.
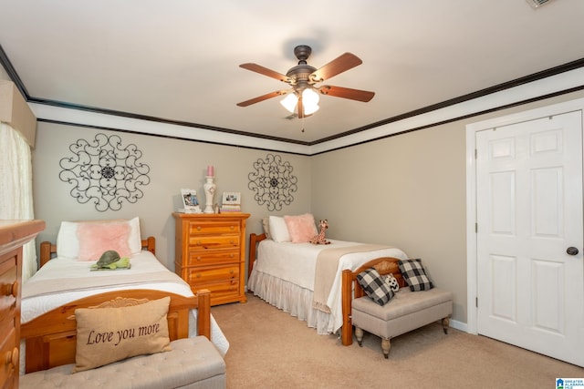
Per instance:
[[[92,140],[97,133],[118,135],[123,146],[135,144],[143,153],[141,162],[151,168],[151,182],[142,187],[144,197],[135,204],[124,203],[118,211],[99,212],[90,203],[78,203],[69,193],[72,185],[59,179],[62,170],[59,160],[73,156],[69,146],[78,139]],[[253,163],[257,159],[265,159],[267,154],[277,154],[283,161],[290,162],[298,179],[292,204],[272,214],[309,211],[312,193],[310,159],[305,156],[39,122],[36,149],[33,151],[35,215],[37,219],[47,222],[47,229],[39,234],[37,241],[55,241],[61,220],[140,216],[142,236],[156,238],[157,256],[173,270],[172,211],[182,207],[180,189],[196,189],[204,205],[204,175],[207,165],[214,165],[218,196],[223,191],[241,192],[242,209],[252,214],[247,220],[247,232],[259,233],[261,218],[270,212],[266,206],[255,202],[253,191],[247,188],[247,175],[253,170]],[[217,201],[218,196],[215,196],[215,202],[220,202]]]

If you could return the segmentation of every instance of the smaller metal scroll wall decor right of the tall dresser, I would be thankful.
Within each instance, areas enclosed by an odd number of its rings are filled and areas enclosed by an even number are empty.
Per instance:
[[[254,171],[247,176],[247,187],[255,191],[254,199],[259,205],[266,204],[267,210],[282,210],[294,200],[297,191],[297,177],[292,175],[292,165],[280,156],[266,155],[266,159],[254,162]]]

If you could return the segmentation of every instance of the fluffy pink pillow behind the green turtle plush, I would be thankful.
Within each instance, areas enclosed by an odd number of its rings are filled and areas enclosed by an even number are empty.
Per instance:
[[[79,224],[78,261],[98,261],[101,254],[108,250],[118,251],[120,258],[130,257],[129,236],[130,224],[127,222]]]

